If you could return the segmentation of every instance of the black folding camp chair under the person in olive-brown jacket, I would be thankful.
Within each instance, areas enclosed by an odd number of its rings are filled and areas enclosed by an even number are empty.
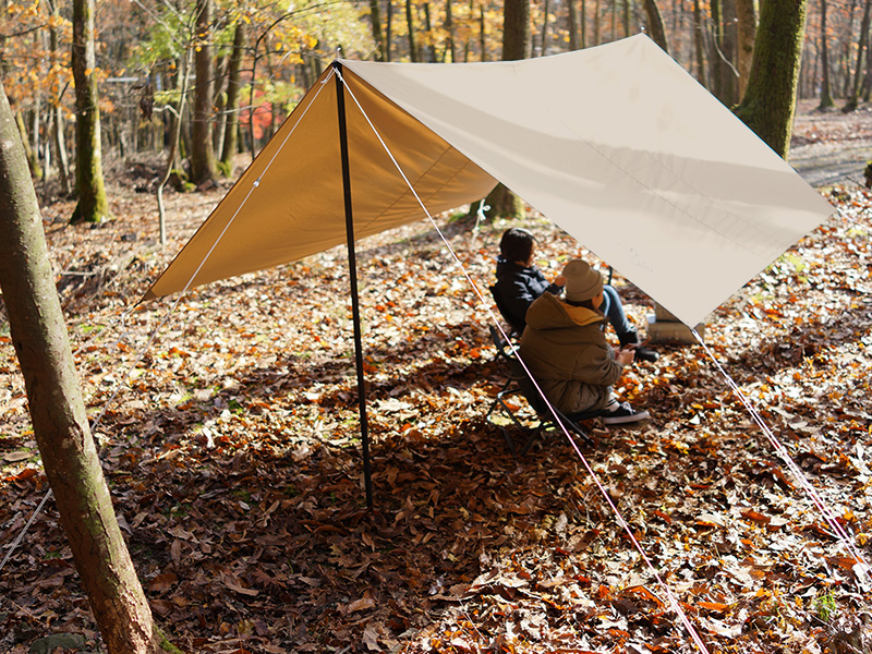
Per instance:
[[[508,379],[499,392],[497,392],[497,397],[494,399],[494,403],[491,405],[491,410],[487,412],[487,415],[485,415],[485,420],[499,427],[499,429],[502,432],[502,437],[506,439],[506,445],[508,445],[511,456],[522,457],[530,449],[530,446],[533,445],[536,436],[545,425],[552,424],[558,428],[560,425],[555,423],[554,414],[540,395],[536,386],[533,384],[533,379],[518,360],[516,348],[508,343],[506,339],[502,338],[502,335],[493,325],[491,326],[491,338],[493,339],[494,346],[497,349],[497,356],[506,364],[506,367],[508,367]],[[535,411],[538,420],[537,423],[533,425],[525,425],[517,415],[517,409],[513,409],[506,401],[507,398],[518,395],[522,396],[533,411]],[[512,423],[514,423],[514,426],[524,434],[525,439],[521,444],[520,449],[516,448],[514,440],[512,439],[512,436],[506,426],[491,421],[491,415],[497,408],[501,409],[511,419]],[[585,411],[581,413],[570,413],[567,415],[560,412],[557,408],[554,408],[554,412],[557,414],[559,422],[568,432],[576,434],[579,439],[581,439],[588,446],[594,447],[596,445],[578,423],[580,421],[598,417],[603,414],[602,411]]]

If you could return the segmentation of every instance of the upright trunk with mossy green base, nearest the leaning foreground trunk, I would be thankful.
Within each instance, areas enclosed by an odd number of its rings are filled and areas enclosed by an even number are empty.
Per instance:
[[[71,222],[109,217],[100,149],[100,109],[94,55],[94,0],[73,0],[73,81],[75,82],[75,192]]]

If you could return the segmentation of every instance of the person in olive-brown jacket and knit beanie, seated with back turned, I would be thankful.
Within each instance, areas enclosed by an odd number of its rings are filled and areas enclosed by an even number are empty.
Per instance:
[[[606,341],[603,276],[582,259],[564,268],[565,295],[543,293],[526,311],[520,355],[545,397],[564,413],[603,411],[606,424],[649,417],[620,402],[613,386],[633,362],[634,350],[615,352]]]

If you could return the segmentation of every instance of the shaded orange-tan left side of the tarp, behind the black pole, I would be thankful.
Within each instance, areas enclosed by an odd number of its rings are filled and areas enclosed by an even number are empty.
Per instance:
[[[438,214],[495,180],[380,94],[346,75],[424,205]],[[355,238],[426,217],[346,94]],[[296,261],[346,239],[336,78],[328,69],[144,300]]]

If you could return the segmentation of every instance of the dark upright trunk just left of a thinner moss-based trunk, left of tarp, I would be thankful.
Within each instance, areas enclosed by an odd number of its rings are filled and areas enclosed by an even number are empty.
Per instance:
[[[196,44],[194,61],[197,83],[194,90],[194,114],[191,134],[191,181],[197,186],[218,179],[218,164],[211,145],[213,57],[211,12],[213,0],[197,0]]]

